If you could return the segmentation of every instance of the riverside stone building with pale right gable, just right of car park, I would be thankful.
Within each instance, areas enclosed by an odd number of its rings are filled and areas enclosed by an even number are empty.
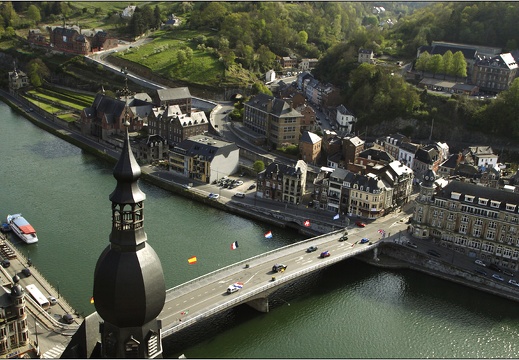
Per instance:
[[[298,160],[295,166],[270,163],[258,174],[256,196],[290,204],[301,204],[306,190],[307,165]]]

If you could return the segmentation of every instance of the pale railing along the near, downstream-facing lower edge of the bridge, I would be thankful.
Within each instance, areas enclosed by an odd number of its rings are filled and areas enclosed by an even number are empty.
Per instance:
[[[323,235],[323,236],[325,236],[325,235]],[[301,242],[296,243],[296,244],[300,245]],[[292,244],[292,245],[296,245],[296,244]],[[286,246],[284,248],[293,247],[292,245]],[[261,285],[260,287],[258,287],[256,289],[247,291],[246,293],[242,292],[241,295],[238,295],[238,296],[234,297],[232,300],[226,301],[226,302],[224,302],[224,303],[222,303],[220,305],[217,305],[217,306],[215,306],[213,308],[209,308],[209,309],[207,309],[205,311],[203,310],[201,314],[196,315],[196,316],[194,316],[192,318],[185,319],[185,320],[182,320],[182,321],[180,321],[180,319],[179,319],[179,321],[177,321],[176,318],[175,319],[171,319],[173,317],[173,315],[165,317],[165,318],[161,319],[162,325],[166,326],[165,329],[164,328],[162,329],[162,335],[163,335],[163,337],[171,335],[172,333],[180,331],[180,330],[182,330],[182,329],[184,329],[184,328],[186,328],[188,326],[191,326],[191,325],[195,324],[196,322],[202,321],[202,320],[208,318],[209,316],[215,315],[215,314],[217,314],[217,313],[219,313],[221,311],[224,311],[224,310],[226,310],[226,309],[228,309],[228,308],[230,308],[232,306],[238,305],[240,303],[244,303],[248,299],[250,299],[251,297],[253,297],[255,295],[258,295],[258,294],[261,294],[263,292],[266,292],[266,291],[268,291],[271,288],[279,287],[280,284],[284,284],[286,282],[292,281],[292,280],[294,280],[296,278],[299,278],[299,277],[302,277],[304,275],[310,274],[310,273],[312,273],[314,271],[317,271],[320,268],[327,267],[329,265],[332,265],[332,264],[337,263],[339,261],[342,261],[344,259],[356,256],[356,255],[361,254],[363,252],[370,251],[375,246],[376,245],[374,244],[374,245],[365,246],[365,247],[362,247],[362,248],[357,247],[356,249],[353,249],[348,254],[338,255],[338,256],[334,256],[334,257],[329,257],[329,258],[323,259],[323,261],[321,261],[321,262],[319,262],[319,263],[317,263],[315,265],[312,265],[312,266],[310,266],[308,268],[305,268],[305,269],[302,269],[302,270],[297,270],[297,271],[294,271],[294,272],[288,273],[288,274],[284,273],[283,276],[278,277],[275,281],[269,281],[266,284]],[[281,248],[281,249],[284,249],[284,248]],[[171,290],[173,290],[173,289],[171,289]],[[170,323],[171,325],[168,326],[167,325],[168,323]]]

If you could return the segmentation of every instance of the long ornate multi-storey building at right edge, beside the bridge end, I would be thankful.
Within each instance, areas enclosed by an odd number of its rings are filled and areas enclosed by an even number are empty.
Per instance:
[[[413,236],[518,270],[519,194],[461,181],[435,191],[434,176],[429,171],[420,184]]]

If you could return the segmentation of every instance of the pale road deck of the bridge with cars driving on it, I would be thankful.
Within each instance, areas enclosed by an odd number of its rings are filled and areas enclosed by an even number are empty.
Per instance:
[[[390,234],[397,235],[407,228],[408,218],[409,214],[401,212],[387,215],[364,228],[353,224],[348,229],[270,251],[170,289],[159,316],[164,335],[191,325],[201,318],[261,297],[257,294],[289,279],[295,280],[318,268],[355,256],[359,252],[369,251],[374,245],[369,242],[361,244],[362,238],[368,238],[375,244]],[[348,240],[339,241],[345,230],[348,231]],[[310,246],[317,246],[317,251],[306,252]],[[330,252],[330,257],[320,258],[320,253],[326,250]],[[272,266],[276,263],[286,265],[286,271],[273,272]],[[245,264],[249,266],[246,267]],[[275,281],[272,281],[273,276]],[[243,288],[227,294],[227,288],[235,282],[242,282]]]

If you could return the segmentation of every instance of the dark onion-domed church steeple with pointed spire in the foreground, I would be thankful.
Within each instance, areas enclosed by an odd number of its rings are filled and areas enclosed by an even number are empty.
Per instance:
[[[160,259],[146,241],[146,195],[137,183],[141,170],[131,150],[127,118],[125,126],[123,150],[113,172],[117,186],[110,195],[110,244],[97,261],[94,304],[104,320],[102,357],[155,358],[162,354],[157,316],[166,288]]]

